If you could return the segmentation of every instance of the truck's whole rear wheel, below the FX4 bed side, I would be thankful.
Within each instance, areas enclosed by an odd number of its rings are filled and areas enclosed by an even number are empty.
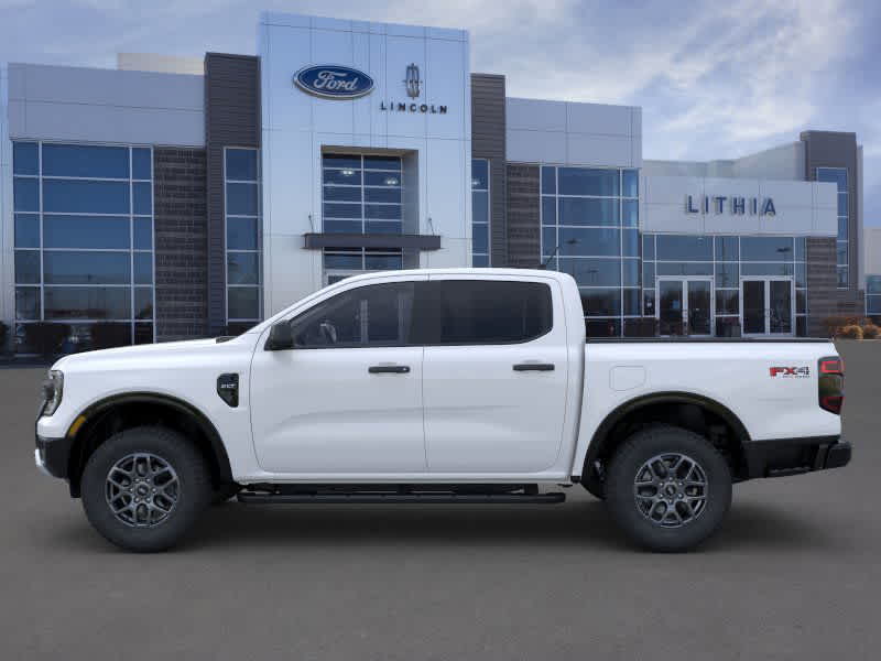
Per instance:
[[[614,453],[606,501],[621,530],[652,551],[688,551],[721,525],[731,505],[731,470],[703,436],[670,425],[645,427]]]

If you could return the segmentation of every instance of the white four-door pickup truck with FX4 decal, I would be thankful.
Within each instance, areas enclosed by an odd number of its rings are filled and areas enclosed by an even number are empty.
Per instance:
[[[36,464],[133,551],[209,503],[553,503],[585,486],[656,551],[737,481],[850,460],[828,340],[587,340],[551,271],[371,273],[239,337],[67,356]],[[554,489],[554,490],[550,490]]]

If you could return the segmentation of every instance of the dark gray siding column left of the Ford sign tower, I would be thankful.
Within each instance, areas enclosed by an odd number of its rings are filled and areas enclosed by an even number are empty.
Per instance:
[[[208,202],[208,330],[226,325],[224,148],[260,147],[260,58],[205,56],[205,145]]]

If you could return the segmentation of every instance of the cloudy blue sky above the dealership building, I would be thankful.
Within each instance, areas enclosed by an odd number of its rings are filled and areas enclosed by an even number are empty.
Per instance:
[[[255,52],[261,10],[467,29],[509,96],[642,107],[643,158],[731,159],[855,131],[881,226],[874,0],[0,0],[0,62],[116,65],[118,52]]]

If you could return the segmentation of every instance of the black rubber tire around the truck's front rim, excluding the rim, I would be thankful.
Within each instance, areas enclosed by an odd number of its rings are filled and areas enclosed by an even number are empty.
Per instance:
[[[116,486],[108,485],[111,468],[133,455],[157,457],[159,462],[153,465],[164,462],[176,476],[174,505],[167,514],[156,514],[162,518],[154,524],[138,527],[127,523],[115,514],[108,502],[108,489],[116,489]],[[156,474],[155,480],[167,479],[167,472],[164,476]],[[115,479],[118,477],[119,474],[115,472]],[[142,481],[150,483],[146,479]],[[150,485],[153,486],[152,483]],[[98,446],[83,472],[83,509],[89,522],[110,542],[139,553],[165,551],[176,544],[208,507],[211,494],[210,473],[198,449],[178,432],[163,426],[141,426],[115,434]],[[163,505],[167,506],[168,502],[171,499],[163,501]],[[122,516],[132,517],[131,513]]]

